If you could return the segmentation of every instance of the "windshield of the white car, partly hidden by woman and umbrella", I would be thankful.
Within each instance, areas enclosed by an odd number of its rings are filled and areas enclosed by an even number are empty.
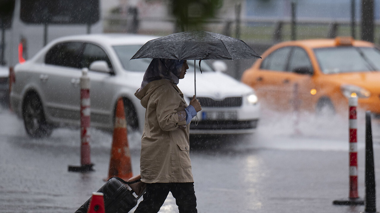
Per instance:
[[[141,58],[141,59],[133,59],[133,55],[141,48],[142,45],[120,45],[120,46],[114,46],[114,50],[117,54],[117,57],[120,60],[120,63],[123,65],[123,68],[128,71],[135,71],[135,72],[145,72],[146,68],[149,66],[150,61],[152,59],[150,58]],[[195,69],[196,71],[199,71],[199,66],[198,63],[199,61],[195,61],[196,66]],[[189,66],[189,70],[194,70],[194,61],[187,61],[187,64]],[[202,72],[211,72],[213,71],[211,67],[203,62],[201,63],[201,69]]]

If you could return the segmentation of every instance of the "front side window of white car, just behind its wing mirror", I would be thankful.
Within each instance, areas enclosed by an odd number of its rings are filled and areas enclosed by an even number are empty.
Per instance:
[[[106,52],[95,44],[85,43],[81,60],[81,67],[89,67],[93,61],[106,61],[108,67],[112,68]]]

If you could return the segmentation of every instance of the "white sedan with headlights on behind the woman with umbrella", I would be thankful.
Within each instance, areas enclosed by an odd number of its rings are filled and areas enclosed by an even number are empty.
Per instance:
[[[56,39],[31,60],[15,67],[11,107],[22,117],[28,135],[48,136],[62,125],[79,126],[81,69],[89,69],[91,127],[113,129],[116,102],[122,97],[130,130],[142,132],[145,108],[134,94],[151,59],[130,58],[157,37],[127,34],[90,34]],[[179,88],[187,102],[194,94],[194,67]],[[198,67],[198,66],[197,66]],[[259,120],[255,92],[232,77],[201,64],[197,68],[197,98],[202,105],[190,124],[190,134],[254,132]]]

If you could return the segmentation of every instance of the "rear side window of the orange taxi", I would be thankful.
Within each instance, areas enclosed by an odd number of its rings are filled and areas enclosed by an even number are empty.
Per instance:
[[[260,69],[286,71],[291,47],[283,47],[275,50],[261,63]]]

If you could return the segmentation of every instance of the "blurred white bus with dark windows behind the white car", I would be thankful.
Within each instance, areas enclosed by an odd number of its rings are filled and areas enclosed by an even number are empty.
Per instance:
[[[13,9],[13,13],[5,14],[11,16],[7,19],[10,26],[0,33],[0,37],[4,35],[0,64],[11,67],[22,63],[61,36],[102,33],[100,7],[100,0],[1,0],[0,28],[6,11]]]

